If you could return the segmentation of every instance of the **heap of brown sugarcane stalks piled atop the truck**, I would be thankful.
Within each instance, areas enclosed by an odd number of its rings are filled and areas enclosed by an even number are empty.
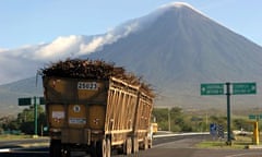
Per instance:
[[[115,76],[133,85],[141,84],[144,89],[151,90],[150,85],[143,83],[141,77],[127,73],[123,68],[115,67],[115,63],[107,63],[103,60],[67,59],[66,61],[50,63],[40,72],[43,76],[87,80],[108,80],[110,76]]]

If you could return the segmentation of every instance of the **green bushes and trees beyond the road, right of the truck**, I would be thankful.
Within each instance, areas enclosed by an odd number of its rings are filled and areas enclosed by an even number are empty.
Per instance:
[[[157,122],[159,131],[210,132],[211,123],[223,125],[225,132],[227,129],[226,112],[223,114],[216,110],[183,111],[179,107],[170,109],[154,108],[153,120]],[[253,130],[253,124],[248,119],[248,116],[231,116],[231,130],[245,130],[251,132]]]

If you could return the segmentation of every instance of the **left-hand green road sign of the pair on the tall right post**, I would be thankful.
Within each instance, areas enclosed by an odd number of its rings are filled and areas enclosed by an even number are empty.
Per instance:
[[[201,95],[224,95],[223,83],[201,84]]]

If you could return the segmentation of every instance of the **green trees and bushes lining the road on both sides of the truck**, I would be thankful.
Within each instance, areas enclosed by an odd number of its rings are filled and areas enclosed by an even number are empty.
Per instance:
[[[182,110],[179,107],[154,108],[152,122],[158,124],[158,131],[170,132],[210,132],[210,124],[216,123],[224,126],[226,132],[226,113],[216,110],[199,111]],[[43,134],[43,128],[47,126],[45,110],[38,106],[38,135]],[[231,116],[231,130],[245,130],[252,132],[253,125],[248,116]],[[47,131],[44,131],[44,134]],[[0,117],[0,135],[32,135],[34,134],[34,107],[26,107],[16,117]]]

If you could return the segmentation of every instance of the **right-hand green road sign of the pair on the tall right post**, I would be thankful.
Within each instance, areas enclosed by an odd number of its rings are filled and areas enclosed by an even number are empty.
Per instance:
[[[234,95],[257,94],[255,83],[233,83]]]

